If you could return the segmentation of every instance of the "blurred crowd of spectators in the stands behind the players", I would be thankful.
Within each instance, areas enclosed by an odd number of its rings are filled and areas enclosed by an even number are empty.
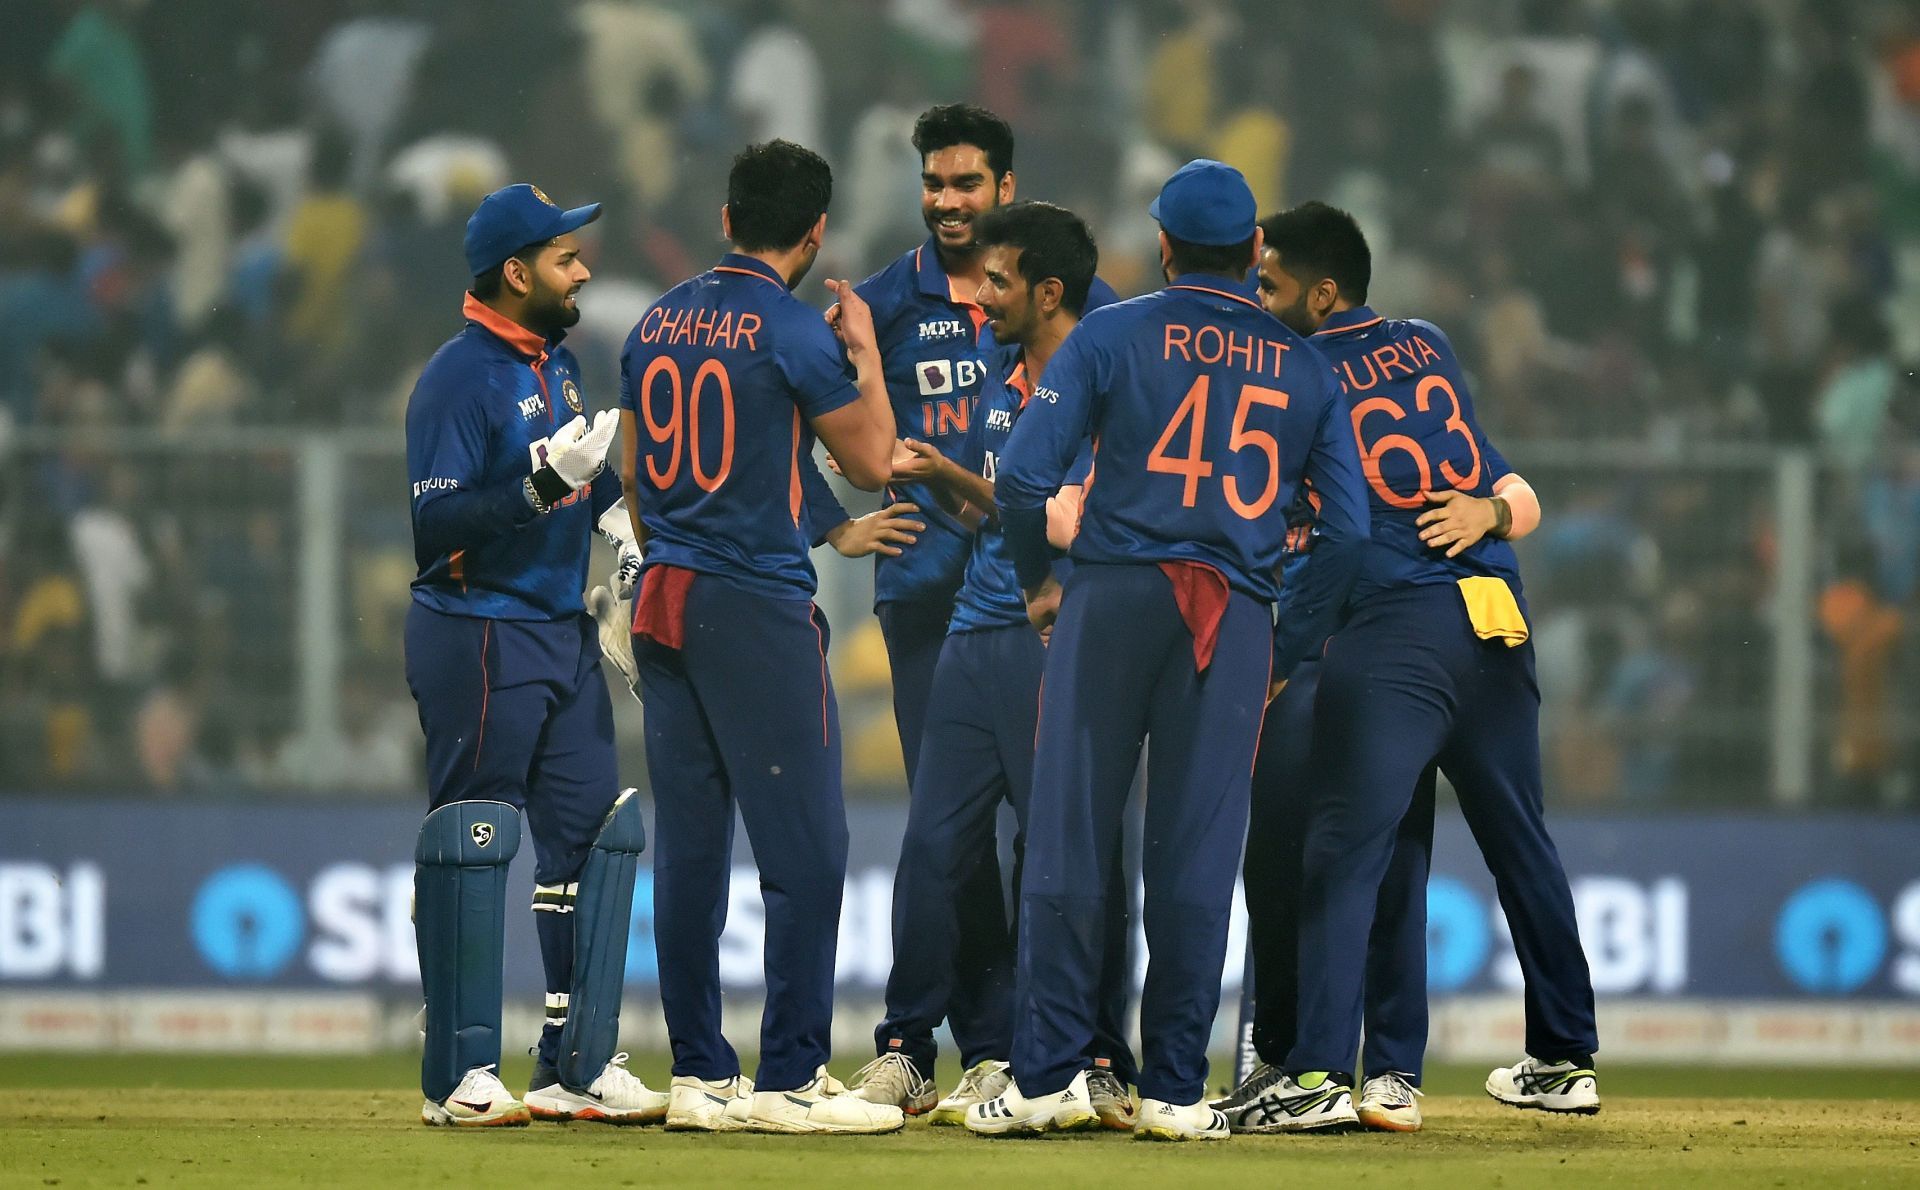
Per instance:
[[[1820,664],[1859,712],[1822,737],[1822,774],[1878,798],[1910,764],[1887,726],[1920,578],[1910,6],[12,0],[0,443],[63,445],[4,488],[0,789],[311,783],[319,764],[261,693],[290,687],[294,651],[284,457],[234,464],[236,501],[219,455],[88,434],[397,426],[457,326],[467,213],[522,178],[607,203],[570,345],[611,403],[626,330],[720,251],[741,144],[829,157],[816,276],[858,278],[924,236],[908,129],[954,98],[1014,125],[1020,194],[1083,213],[1123,296],[1158,284],[1148,198],[1221,157],[1261,209],[1359,215],[1377,305],[1450,330],[1501,440],[1822,447]],[[1590,785],[1571,797],[1659,800],[1751,756],[1768,474],[1542,478],[1557,503],[1528,564],[1557,618],[1542,681],[1572,750],[1553,772]],[[374,545],[403,547],[397,489],[351,503],[390,503]],[[397,672],[392,637],[353,637]],[[403,691],[348,670],[357,743],[332,783],[411,787]],[[1743,727],[1688,727],[1715,714]]]

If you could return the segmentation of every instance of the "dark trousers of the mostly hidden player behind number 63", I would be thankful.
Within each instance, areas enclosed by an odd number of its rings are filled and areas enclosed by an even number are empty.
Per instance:
[[[1254,758],[1254,808],[1246,831],[1246,944],[1254,965],[1254,1050],[1283,1065],[1294,1048],[1300,1008],[1300,862],[1317,775],[1308,766],[1319,660],[1306,660],[1267,706]],[[1434,768],[1421,774],[1400,820],[1367,935],[1361,1067],[1421,1084],[1427,1054],[1427,871],[1432,864]]]

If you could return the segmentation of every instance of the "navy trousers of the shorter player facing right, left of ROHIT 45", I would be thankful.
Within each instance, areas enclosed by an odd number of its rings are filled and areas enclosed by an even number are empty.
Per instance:
[[[995,854],[1000,802],[1014,808],[1018,906],[1033,791],[1033,735],[1041,718],[1046,647],[1029,626],[987,628],[947,637],[927,702],[920,775],[912,785],[900,868],[893,877],[893,971],[887,1017],[874,1031],[879,1054],[906,1054],[933,1075],[933,1029],[948,1023],[960,1063],[1006,1061],[1014,1048],[1014,927],[998,885],[972,887],[977,856]],[[983,904],[970,898],[981,896]],[[1133,1081],[1127,1027],[1129,894],[1116,864],[1108,885],[1108,962],[1091,1059],[1106,1059]]]

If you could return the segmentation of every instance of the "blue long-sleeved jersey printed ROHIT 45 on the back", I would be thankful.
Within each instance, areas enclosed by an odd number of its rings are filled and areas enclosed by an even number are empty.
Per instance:
[[[1031,587],[1044,578],[1046,497],[1092,438],[1075,562],[1200,562],[1271,603],[1286,511],[1309,480],[1319,537],[1275,631],[1284,678],[1346,601],[1367,497],[1332,370],[1252,294],[1188,274],[1087,315],[1035,386],[995,499]]]

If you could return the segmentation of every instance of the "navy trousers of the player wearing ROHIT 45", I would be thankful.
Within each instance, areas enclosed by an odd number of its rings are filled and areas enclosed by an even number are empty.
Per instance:
[[[1108,892],[1146,754],[1142,1098],[1198,1102],[1219,1010],[1235,858],[1273,664],[1269,605],[1231,593],[1212,664],[1154,564],[1081,564],[1046,651],[1021,873],[1014,1079],[1066,1088],[1085,1065],[1106,958]]]

